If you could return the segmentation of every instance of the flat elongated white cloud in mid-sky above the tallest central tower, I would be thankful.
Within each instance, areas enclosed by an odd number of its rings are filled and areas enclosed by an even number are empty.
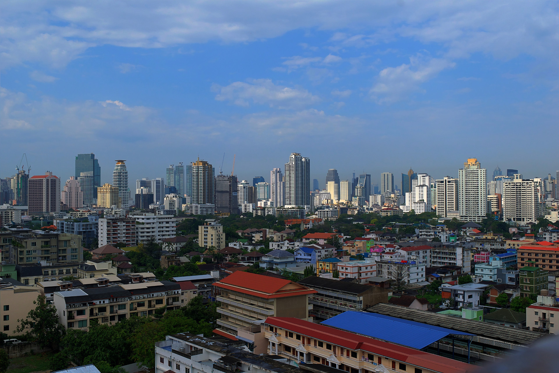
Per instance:
[[[305,107],[320,101],[318,96],[306,89],[276,86],[271,79],[249,79],[247,82],[234,82],[225,87],[214,84],[212,91],[217,92],[215,99],[244,107],[252,101],[257,105],[282,109]]]

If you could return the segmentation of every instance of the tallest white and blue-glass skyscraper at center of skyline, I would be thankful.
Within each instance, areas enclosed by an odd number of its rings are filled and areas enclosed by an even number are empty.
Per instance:
[[[285,164],[285,205],[305,207],[311,205],[310,158],[291,153]]]

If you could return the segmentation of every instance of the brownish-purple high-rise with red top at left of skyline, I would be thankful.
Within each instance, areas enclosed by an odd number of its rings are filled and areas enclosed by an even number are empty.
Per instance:
[[[29,214],[60,211],[60,179],[52,172],[29,178]]]

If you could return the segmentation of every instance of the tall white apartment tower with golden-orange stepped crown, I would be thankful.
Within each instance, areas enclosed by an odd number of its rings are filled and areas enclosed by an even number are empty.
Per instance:
[[[476,158],[458,170],[458,213],[460,220],[477,223],[487,214],[487,170]]]

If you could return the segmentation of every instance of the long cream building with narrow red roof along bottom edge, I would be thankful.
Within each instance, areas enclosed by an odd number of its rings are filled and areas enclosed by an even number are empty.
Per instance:
[[[268,353],[301,365],[321,364],[350,373],[472,370],[467,363],[305,320],[269,317],[265,326]]]

